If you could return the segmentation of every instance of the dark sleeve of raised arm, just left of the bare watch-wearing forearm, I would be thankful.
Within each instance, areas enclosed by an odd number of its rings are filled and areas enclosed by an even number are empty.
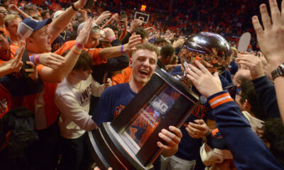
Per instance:
[[[275,87],[268,77],[260,77],[253,80],[256,97],[260,106],[263,107],[268,118],[280,118]]]

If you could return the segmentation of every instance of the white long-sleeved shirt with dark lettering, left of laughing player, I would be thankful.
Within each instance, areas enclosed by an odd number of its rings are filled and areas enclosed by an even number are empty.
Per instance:
[[[89,115],[91,95],[101,96],[104,85],[94,81],[91,75],[79,84],[70,84],[65,79],[55,91],[55,104],[60,110],[59,127],[62,137],[75,139],[85,131],[94,130],[97,124]]]

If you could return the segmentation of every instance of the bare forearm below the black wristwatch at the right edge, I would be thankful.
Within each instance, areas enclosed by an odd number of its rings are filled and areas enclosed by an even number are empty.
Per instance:
[[[277,103],[280,115],[284,123],[284,91],[283,91],[284,77],[277,77],[274,80],[274,84],[275,84],[275,91],[276,91]]]

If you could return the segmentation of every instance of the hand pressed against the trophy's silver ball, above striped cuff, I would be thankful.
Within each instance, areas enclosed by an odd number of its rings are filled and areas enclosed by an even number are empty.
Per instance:
[[[186,69],[187,77],[190,79],[195,88],[200,91],[204,97],[209,97],[213,94],[217,94],[223,91],[222,84],[218,76],[218,72],[214,73],[214,76],[204,67],[200,62],[195,60],[197,67],[192,64],[188,64],[190,69]]]

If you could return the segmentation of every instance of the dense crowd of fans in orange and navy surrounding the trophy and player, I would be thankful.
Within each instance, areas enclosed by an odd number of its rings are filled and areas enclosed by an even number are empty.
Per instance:
[[[86,0],[32,2],[0,4],[0,169],[91,169],[87,132],[114,120],[156,67],[186,73],[200,103],[180,129],[161,130],[153,169],[283,169],[277,1],[269,1],[271,16],[261,1],[98,0],[92,9],[84,9]],[[148,23],[134,19],[143,4]],[[260,4],[262,23],[253,16]],[[187,36],[199,32],[228,40],[222,74],[206,68],[217,53],[185,54]],[[244,32],[251,45],[238,52]],[[182,66],[185,55],[194,64]],[[151,130],[136,124],[134,140]]]

